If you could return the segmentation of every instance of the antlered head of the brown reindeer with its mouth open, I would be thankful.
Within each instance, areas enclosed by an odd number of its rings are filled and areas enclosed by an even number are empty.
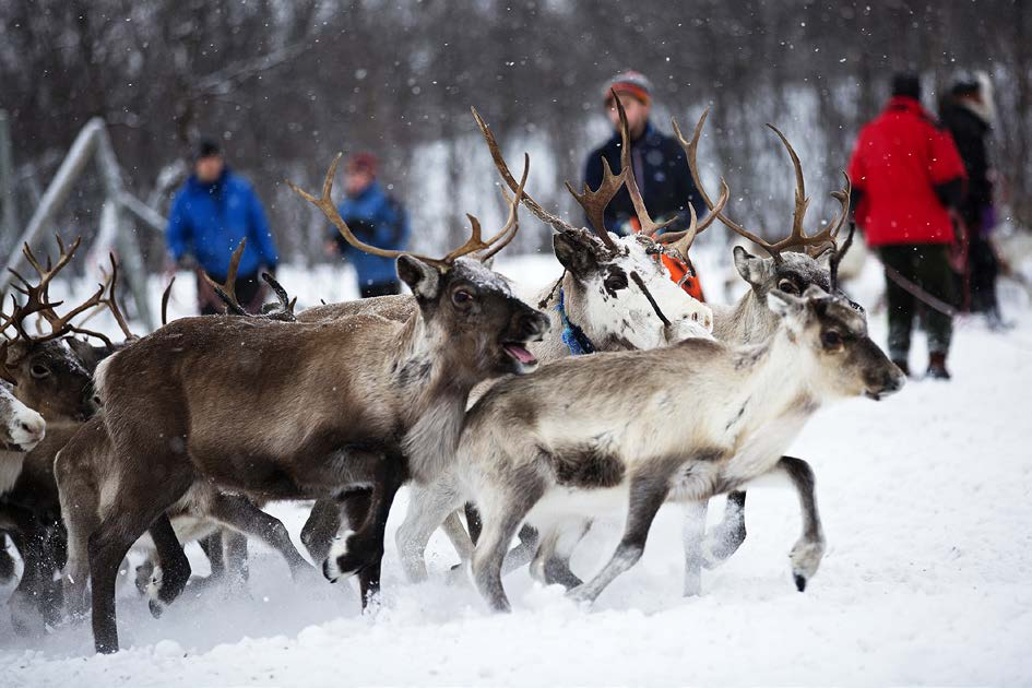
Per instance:
[[[470,239],[443,258],[385,250],[355,237],[331,200],[340,159],[337,155],[327,171],[321,198],[293,183],[290,188],[322,211],[352,246],[376,256],[396,258],[398,276],[412,289],[424,323],[437,336],[447,340],[446,356],[462,363],[455,367],[455,372],[466,370],[483,379],[534,370],[537,358],[527,351],[526,344],[539,341],[548,331],[548,318],[513,296],[505,277],[488,268],[490,259],[519,232],[518,209],[530,159],[524,156],[523,179],[510,199],[509,221],[505,227],[483,240],[479,221],[467,215],[472,224]]]

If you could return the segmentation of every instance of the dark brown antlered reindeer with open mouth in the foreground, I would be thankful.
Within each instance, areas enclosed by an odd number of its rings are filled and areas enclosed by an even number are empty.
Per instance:
[[[333,206],[339,162],[321,198],[294,188],[353,246],[396,258],[419,310],[404,323],[185,318],[100,364],[95,383],[114,452],[96,475],[99,521],[87,545],[98,652],[118,649],[115,578],[126,551],[152,524],[167,522],[177,501],[214,488],[311,499],[371,486],[368,518],[346,538],[342,567],[359,573],[368,601],[398,488],[440,472],[476,383],[537,366],[526,344],[544,334],[547,318],[470,257],[488,258],[512,239],[520,193],[487,241],[472,218],[471,238],[443,258],[382,251],[359,241]],[[234,408],[232,400],[244,398],[260,400],[256,417]],[[74,465],[72,449],[62,456]],[[62,494],[72,483],[58,474]]]

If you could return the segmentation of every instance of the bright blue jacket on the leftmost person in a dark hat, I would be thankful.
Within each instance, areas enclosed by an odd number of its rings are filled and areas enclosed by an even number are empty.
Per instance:
[[[253,275],[261,265],[275,270],[280,261],[254,189],[228,168],[212,183],[201,183],[194,175],[187,179],[173,201],[165,237],[176,261],[192,254],[220,281],[226,278],[233,250],[245,237],[240,277]]]

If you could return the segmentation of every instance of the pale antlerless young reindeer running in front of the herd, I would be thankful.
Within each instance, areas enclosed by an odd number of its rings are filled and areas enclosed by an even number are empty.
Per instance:
[[[825,402],[878,400],[902,387],[902,372],[843,299],[819,287],[768,297],[783,322],[763,344],[696,339],[567,358],[500,381],[474,405],[458,448],[455,501],[484,508],[473,577],[493,609],[510,608],[501,570],[520,523],[535,525],[543,542],[561,541],[570,521],[626,506],[612,559],[570,591],[594,601],[640,558],[665,501],[702,502],[739,488],[778,470]],[[686,414],[681,396],[707,403]]]

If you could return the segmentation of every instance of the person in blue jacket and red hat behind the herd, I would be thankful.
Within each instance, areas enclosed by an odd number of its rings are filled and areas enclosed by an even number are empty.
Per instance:
[[[344,173],[347,197],[337,211],[359,240],[401,251],[407,246],[411,235],[408,216],[401,203],[388,195],[377,181],[377,167],[378,161],[371,153],[356,153],[348,158]],[[363,298],[401,294],[394,259],[356,249],[334,227],[330,228],[327,250],[355,266]]]

